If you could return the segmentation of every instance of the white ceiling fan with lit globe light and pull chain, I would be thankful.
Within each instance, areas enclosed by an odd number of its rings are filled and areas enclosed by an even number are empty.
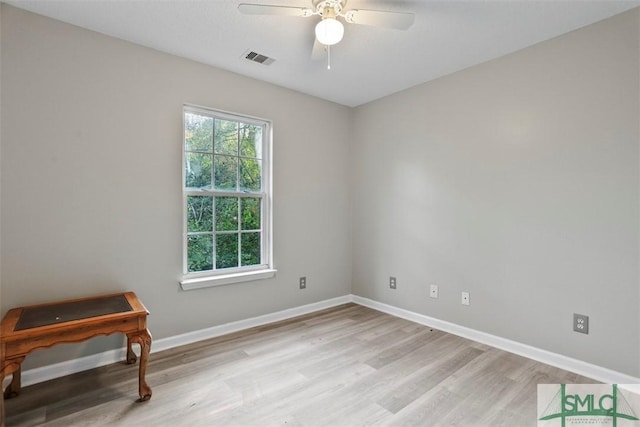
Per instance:
[[[311,57],[319,58],[327,52],[328,66],[331,68],[331,51],[333,46],[342,40],[344,25],[338,18],[348,24],[370,25],[375,27],[408,30],[415,20],[411,12],[393,12],[386,10],[345,9],[346,0],[313,0],[313,8],[280,6],[267,4],[240,3],[238,10],[247,15],[284,15],[310,18],[319,16],[315,27],[315,43]]]

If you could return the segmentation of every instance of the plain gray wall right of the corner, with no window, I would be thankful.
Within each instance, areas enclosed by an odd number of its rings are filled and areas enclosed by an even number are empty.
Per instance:
[[[357,108],[354,294],[638,376],[638,23]]]

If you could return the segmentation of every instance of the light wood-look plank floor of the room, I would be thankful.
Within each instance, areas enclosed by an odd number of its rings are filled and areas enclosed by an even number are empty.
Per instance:
[[[8,426],[535,426],[589,378],[355,304],[25,387]]]

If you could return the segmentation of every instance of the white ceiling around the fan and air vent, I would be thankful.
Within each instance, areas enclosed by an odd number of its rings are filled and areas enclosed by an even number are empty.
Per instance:
[[[243,15],[241,0],[4,0],[13,6],[347,106],[497,58],[640,5],[589,0],[347,0],[347,9],[412,11],[408,31],[345,25],[312,61],[315,18]],[[242,0],[310,7],[313,0]],[[254,50],[269,66],[243,59]]]

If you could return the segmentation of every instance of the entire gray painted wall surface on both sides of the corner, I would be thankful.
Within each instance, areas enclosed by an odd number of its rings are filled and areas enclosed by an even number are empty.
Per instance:
[[[1,10],[2,314],[131,289],[157,339],[353,292],[640,375],[637,10],[355,110]],[[273,120],[275,279],[179,291],[183,103]]]

